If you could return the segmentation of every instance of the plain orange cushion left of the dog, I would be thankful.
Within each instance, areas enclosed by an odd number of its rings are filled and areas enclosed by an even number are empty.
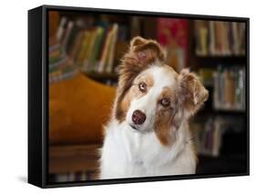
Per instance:
[[[49,86],[49,141],[51,144],[102,141],[115,88],[94,82],[84,74]]]

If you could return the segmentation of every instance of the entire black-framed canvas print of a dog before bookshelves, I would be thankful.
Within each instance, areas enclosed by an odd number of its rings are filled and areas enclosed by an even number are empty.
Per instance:
[[[28,11],[28,182],[250,174],[249,18]]]

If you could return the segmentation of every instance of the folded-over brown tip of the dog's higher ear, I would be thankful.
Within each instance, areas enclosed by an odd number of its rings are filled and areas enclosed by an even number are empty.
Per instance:
[[[138,63],[148,64],[156,60],[164,62],[166,59],[165,50],[154,40],[147,40],[140,36],[134,37],[129,46],[129,52],[135,54]]]

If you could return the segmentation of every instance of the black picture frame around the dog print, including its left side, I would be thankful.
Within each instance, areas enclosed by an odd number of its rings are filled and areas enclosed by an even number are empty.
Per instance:
[[[48,11],[93,12],[97,14],[143,15],[244,22],[246,24],[246,137],[247,167],[244,173],[179,175],[134,179],[98,179],[49,183],[48,172]],[[28,11],[28,182],[40,188],[102,185],[172,179],[205,179],[250,175],[250,19],[217,15],[185,15],[132,10],[42,5]]]

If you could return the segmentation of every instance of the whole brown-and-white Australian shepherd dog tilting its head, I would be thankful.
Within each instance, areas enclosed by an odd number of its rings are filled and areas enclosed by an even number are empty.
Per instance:
[[[196,74],[175,72],[165,58],[156,41],[131,40],[100,150],[100,179],[195,173],[188,120],[209,92]]]

